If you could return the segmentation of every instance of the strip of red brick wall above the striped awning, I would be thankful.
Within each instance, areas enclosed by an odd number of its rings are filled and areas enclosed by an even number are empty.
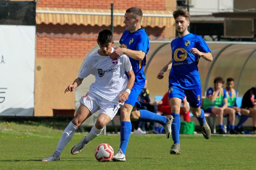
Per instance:
[[[111,8],[111,3],[115,9],[126,9],[137,6],[142,10],[166,10],[166,1],[175,0],[38,0],[38,7],[56,8]]]

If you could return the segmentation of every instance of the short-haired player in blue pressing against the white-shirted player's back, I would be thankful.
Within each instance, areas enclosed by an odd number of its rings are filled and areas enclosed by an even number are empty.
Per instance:
[[[165,117],[157,115],[146,110],[137,111],[136,103],[138,96],[143,91],[145,85],[145,75],[143,72],[146,65],[146,54],[149,50],[149,38],[145,33],[145,29],[141,28],[140,22],[143,13],[140,8],[132,7],[125,11],[125,31],[119,40],[121,47],[116,47],[111,54],[111,58],[117,58],[122,54],[126,54],[131,61],[131,65],[135,74],[134,86],[125,104],[121,106],[121,131],[120,131],[120,148],[118,153],[113,156],[113,161],[125,161],[126,148],[128,146],[131,135],[131,118],[144,122],[157,122],[164,126],[166,137],[171,135],[172,116]]]

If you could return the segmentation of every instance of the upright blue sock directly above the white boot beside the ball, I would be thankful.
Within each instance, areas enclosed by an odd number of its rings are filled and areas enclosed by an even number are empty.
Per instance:
[[[120,149],[125,154],[126,148],[128,146],[128,142],[131,135],[131,122],[121,122],[121,130],[120,130]]]

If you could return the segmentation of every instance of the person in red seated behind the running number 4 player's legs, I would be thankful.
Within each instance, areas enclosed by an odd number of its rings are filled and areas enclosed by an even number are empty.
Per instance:
[[[164,94],[162,104],[158,105],[157,111],[162,112],[164,115],[171,115],[171,106],[169,105],[168,91],[166,92],[166,94]],[[180,115],[183,115],[183,120],[186,122],[190,122],[189,113],[189,103],[187,102],[185,96],[183,105],[181,105],[180,107]]]

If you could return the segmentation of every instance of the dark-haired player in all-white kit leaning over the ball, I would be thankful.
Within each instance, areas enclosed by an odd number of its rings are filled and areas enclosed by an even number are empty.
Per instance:
[[[81,123],[99,111],[99,117],[90,133],[71,150],[73,155],[79,153],[86,144],[100,135],[105,125],[116,115],[120,104],[123,105],[128,99],[135,79],[128,56],[124,54],[117,59],[109,57],[114,50],[114,42],[113,34],[108,29],[99,32],[97,42],[100,50],[87,57],[79,76],[72,85],[67,86],[65,93],[74,91],[90,74],[94,75],[96,80],[90,85],[89,92],[81,97],[76,115],[64,130],[55,152],[43,161],[58,161],[62,150]]]

